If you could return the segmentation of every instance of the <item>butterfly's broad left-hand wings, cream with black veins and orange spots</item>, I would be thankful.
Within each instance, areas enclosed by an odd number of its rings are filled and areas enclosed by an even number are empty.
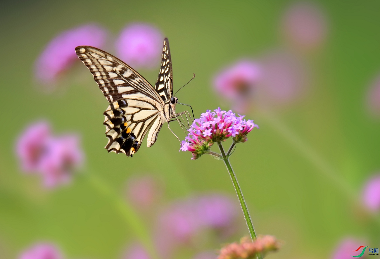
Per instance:
[[[163,123],[160,113],[164,103],[149,82],[105,51],[90,46],[79,46],[75,50],[110,103],[103,123],[109,139],[108,152],[123,152],[127,156],[136,153],[153,125],[157,128],[153,134],[157,139]],[[155,139],[148,145],[153,145]]]

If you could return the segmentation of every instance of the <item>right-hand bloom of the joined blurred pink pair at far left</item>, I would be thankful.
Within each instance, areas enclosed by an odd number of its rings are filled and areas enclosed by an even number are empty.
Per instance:
[[[68,183],[73,171],[82,164],[83,153],[79,147],[79,137],[67,135],[51,138],[46,144],[46,152],[41,157],[40,171],[46,187]]]

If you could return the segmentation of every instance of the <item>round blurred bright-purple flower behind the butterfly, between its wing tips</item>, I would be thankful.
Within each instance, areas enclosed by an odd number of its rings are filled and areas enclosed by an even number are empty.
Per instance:
[[[116,40],[117,57],[133,68],[157,67],[163,44],[161,32],[149,24],[131,24]]]

